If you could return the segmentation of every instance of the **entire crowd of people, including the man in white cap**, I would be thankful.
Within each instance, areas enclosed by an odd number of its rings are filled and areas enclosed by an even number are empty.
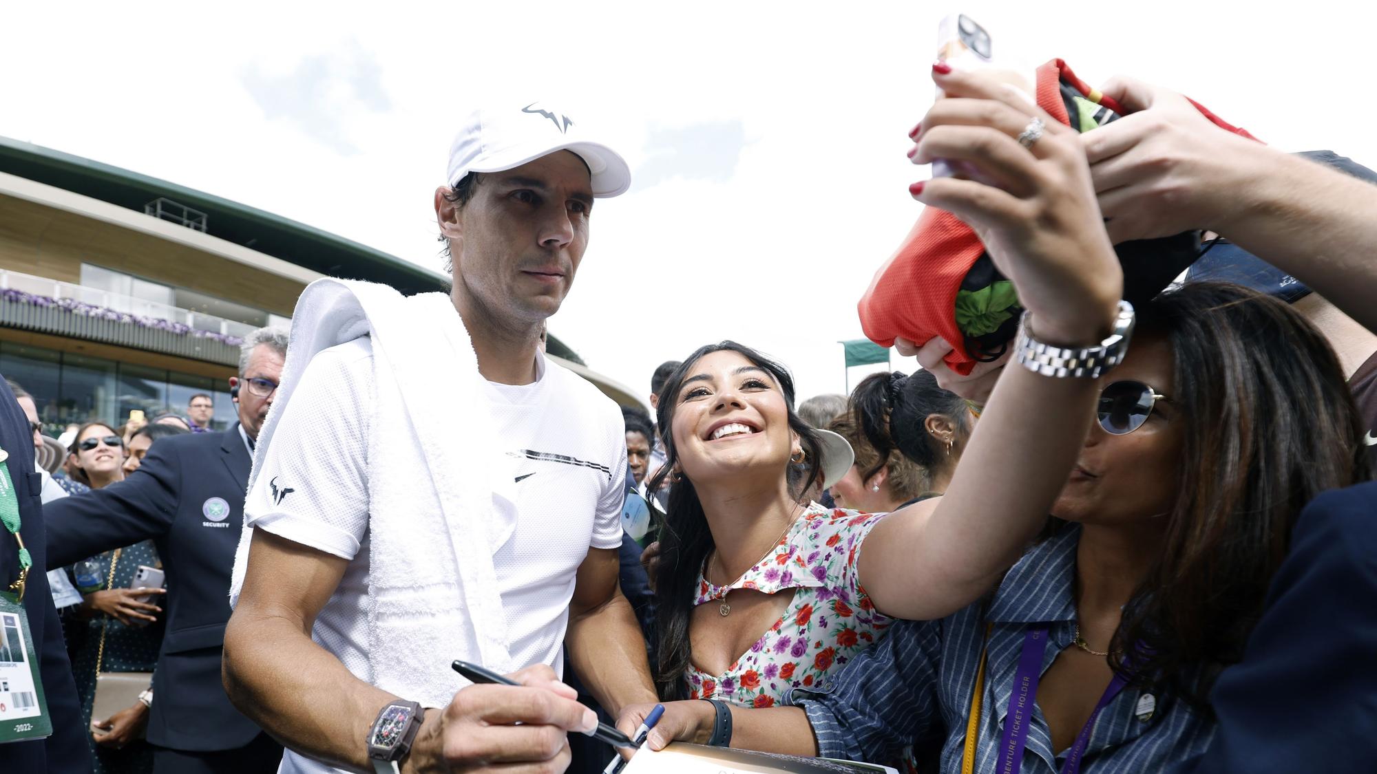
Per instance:
[[[660,705],[651,749],[1362,770],[1377,175],[1137,81],[1106,84],[1126,116],[1082,135],[980,74],[932,77],[950,99],[909,158],[969,174],[910,193],[974,229],[1022,307],[974,366],[899,337],[921,369],[799,401],[726,340],[618,415],[543,343],[629,169],[522,110],[475,114],[435,194],[453,293],[311,285],[297,344],[245,339],[227,431],[197,394],[56,453],[8,383],[0,494],[29,548],[0,569],[21,589],[37,569],[54,719],[10,760],[598,771],[617,751],[593,718],[632,734]],[[522,153],[490,157],[492,132]],[[1121,300],[1115,245],[1183,233],[1205,240],[1183,281]],[[464,438],[414,421],[438,397]]]

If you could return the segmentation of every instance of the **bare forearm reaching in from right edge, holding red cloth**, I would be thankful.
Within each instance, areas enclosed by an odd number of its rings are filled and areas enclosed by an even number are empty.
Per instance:
[[[1252,146],[1252,147],[1249,147]],[[1210,226],[1377,332],[1377,186],[1248,143],[1239,204]]]

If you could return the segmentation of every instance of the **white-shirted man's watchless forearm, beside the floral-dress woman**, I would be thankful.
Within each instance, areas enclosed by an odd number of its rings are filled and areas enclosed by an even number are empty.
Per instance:
[[[574,673],[613,718],[628,704],[655,701],[646,639],[621,591],[592,610],[570,614],[565,647]]]

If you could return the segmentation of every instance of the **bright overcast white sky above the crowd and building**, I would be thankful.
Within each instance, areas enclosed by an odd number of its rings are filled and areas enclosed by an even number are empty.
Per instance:
[[[596,207],[551,331],[642,393],[723,337],[782,359],[800,398],[843,390],[836,342],[861,336],[855,302],[917,216],[906,132],[953,10],[1004,61],[1133,74],[1285,150],[1377,167],[1377,12],[1354,3],[113,6],[6,8],[0,135],[431,269],[470,106],[543,101],[602,128],[635,182]]]

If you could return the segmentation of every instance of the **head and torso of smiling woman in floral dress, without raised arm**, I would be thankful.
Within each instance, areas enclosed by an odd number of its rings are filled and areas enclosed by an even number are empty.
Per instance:
[[[793,412],[789,372],[749,347],[691,354],[658,413],[658,478],[672,481],[657,583],[661,694],[772,707],[793,686],[821,684],[888,627],[855,563],[877,518],[799,504],[821,475],[822,445]]]

